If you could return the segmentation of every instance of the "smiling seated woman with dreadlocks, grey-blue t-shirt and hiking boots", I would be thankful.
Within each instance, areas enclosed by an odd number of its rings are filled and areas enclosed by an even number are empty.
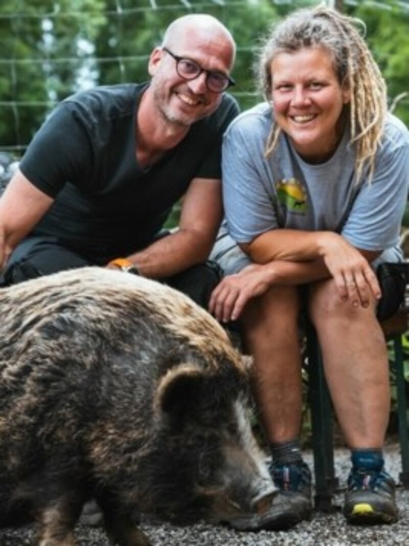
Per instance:
[[[224,322],[240,317],[254,355],[255,396],[279,489],[263,517],[269,529],[311,515],[311,474],[298,440],[304,309],[351,449],[345,517],[353,524],[398,519],[382,454],[390,395],[375,270],[402,259],[409,138],[387,112],[360,23],[322,7],[281,21],[259,61],[267,103],[237,117],[224,138],[226,225],[238,246],[225,252],[228,238],[220,238],[214,249],[229,265],[210,311]]]

